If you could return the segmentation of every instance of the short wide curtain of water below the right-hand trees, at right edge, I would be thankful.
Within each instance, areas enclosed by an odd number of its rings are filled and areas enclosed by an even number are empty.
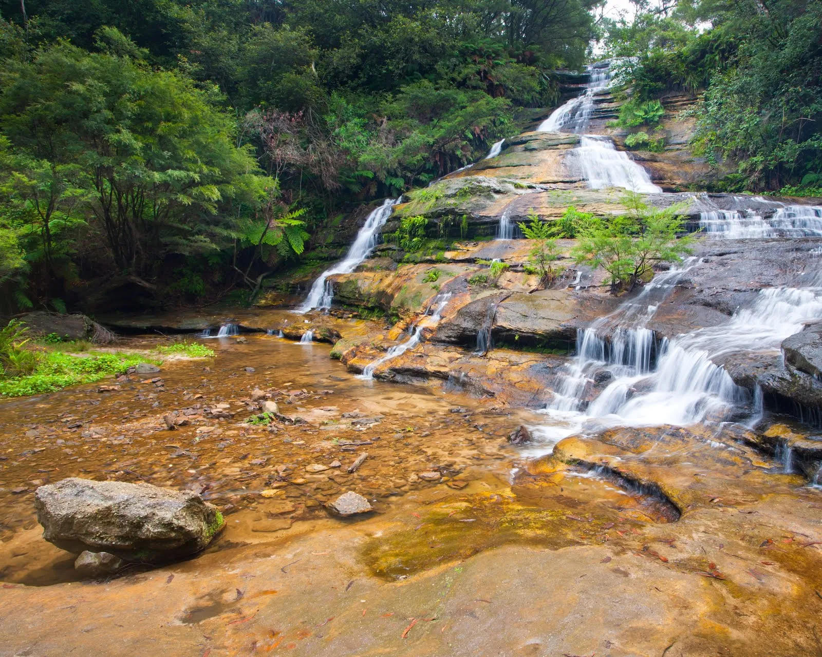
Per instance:
[[[785,205],[770,218],[754,210],[715,210],[700,213],[700,227],[711,237],[729,240],[766,237],[822,237],[822,207]]]

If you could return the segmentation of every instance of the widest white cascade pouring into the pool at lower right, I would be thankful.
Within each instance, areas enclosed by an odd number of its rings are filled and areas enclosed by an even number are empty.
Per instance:
[[[535,430],[552,448],[586,426],[690,425],[740,413],[757,416],[761,393],[751,398],[716,361],[732,352],[778,351],[785,338],[812,319],[822,319],[822,288],[769,287],[726,324],[670,342],[654,341],[653,333],[641,327],[617,328],[610,341],[599,337],[596,327],[588,328],[580,332],[577,355],[544,411],[554,423]],[[585,393],[598,377],[610,383],[582,410]]]

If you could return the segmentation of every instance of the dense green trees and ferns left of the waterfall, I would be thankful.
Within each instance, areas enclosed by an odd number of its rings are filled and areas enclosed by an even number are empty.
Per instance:
[[[0,311],[118,296],[92,276],[138,287],[123,306],[253,299],[341,208],[427,185],[554,103],[597,6],[0,0]]]

